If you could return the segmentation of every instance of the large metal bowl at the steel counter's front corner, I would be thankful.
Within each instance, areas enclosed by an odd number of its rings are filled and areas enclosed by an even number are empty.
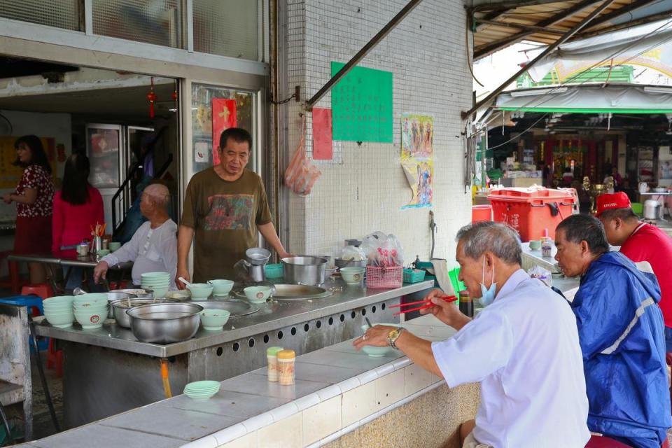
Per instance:
[[[141,342],[172,344],[194,337],[203,307],[193,303],[153,303],[128,309],[131,331]]]

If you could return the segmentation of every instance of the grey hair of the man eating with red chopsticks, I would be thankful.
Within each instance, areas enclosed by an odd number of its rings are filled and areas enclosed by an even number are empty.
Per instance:
[[[510,265],[522,264],[520,237],[504,223],[482,221],[465,225],[457,232],[456,241],[463,244],[465,255],[474,260],[490,251]]]

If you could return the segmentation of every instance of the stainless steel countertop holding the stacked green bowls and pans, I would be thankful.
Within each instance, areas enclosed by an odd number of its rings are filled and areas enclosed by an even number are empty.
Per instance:
[[[55,328],[43,319],[36,319],[35,328],[41,336],[166,358],[415,293],[432,288],[433,281],[404,283],[401,288],[394,289],[372,289],[348,286],[341,279],[331,279],[323,287],[334,288],[336,292],[321,299],[267,302],[254,314],[230,318],[223,332],[199,328],[195,337],[175,344],[139,342],[130,329],[116,323],[106,323],[97,330],[83,330],[77,323],[70,328]]]

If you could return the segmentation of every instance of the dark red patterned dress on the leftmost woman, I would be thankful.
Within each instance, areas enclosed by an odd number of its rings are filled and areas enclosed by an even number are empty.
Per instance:
[[[46,169],[30,165],[23,170],[15,195],[27,188],[37,190],[32,204],[16,203],[16,234],[14,253],[48,254],[51,251],[51,217],[54,183]]]

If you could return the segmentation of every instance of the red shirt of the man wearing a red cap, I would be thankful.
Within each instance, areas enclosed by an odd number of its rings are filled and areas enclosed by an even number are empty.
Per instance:
[[[655,225],[642,223],[621,246],[633,262],[647,261],[660,285],[659,306],[666,327],[672,327],[672,238]]]

